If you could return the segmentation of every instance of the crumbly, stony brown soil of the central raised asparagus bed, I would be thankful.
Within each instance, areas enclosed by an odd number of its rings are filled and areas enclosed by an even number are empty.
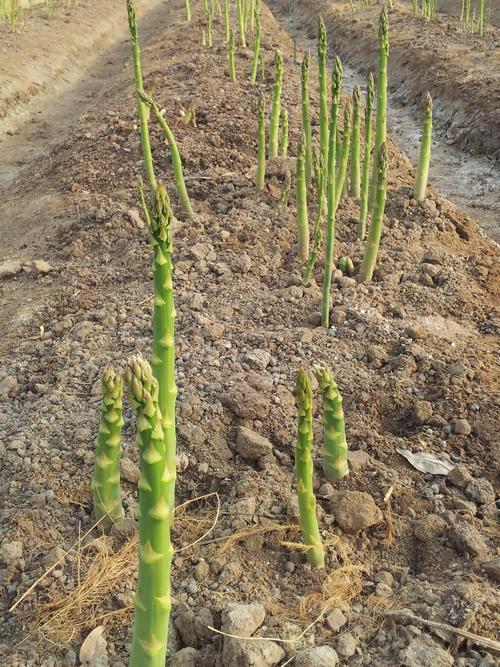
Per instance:
[[[432,187],[418,205],[411,196],[414,170],[390,142],[375,279],[359,285],[337,274],[334,325],[321,328],[323,262],[303,288],[293,196],[279,206],[300,128],[290,38],[264,5],[265,80],[250,83],[251,51],[240,48],[232,84],[220,19],[214,47],[202,47],[201,12],[192,5],[191,24],[181,0],[155,5],[141,21],[145,86],[174,129],[196,211],[187,221],[178,210],[164,138],[152,124],[157,170],[179,218],[177,503],[191,502],[178,510],[174,530],[173,660],[205,667],[298,665],[304,664],[298,652],[328,645],[349,666],[437,664],[419,662],[421,651],[415,657],[416,647],[427,646],[439,664],[493,667],[495,655],[480,641],[385,612],[406,609],[498,640],[498,247]],[[109,10],[113,25],[118,9],[117,3]],[[88,3],[86,20],[96,25],[100,11]],[[89,487],[101,372],[109,364],[123,367],[138,352],[147,357],[151,347],[151,248],[138,214],[142,162],[126,37],[126,26],[116,28],[113,44],[92,64],[104,71],[113,61],[109,80],[99,78],[99,95],[82,106],[75,94],[67,125],[42,138],[1,193],[0,264],[20,265],[0,279],[0,651],[6,667],[75,665],[83,639],[100,625],[109,664],[127,662],[137,518],[135,421],[128,406],[127,519],[111,536],[86,535],[93,525]],[[257,195],[258,93],[272,92],[277,46],[285,55],[291,157],[270,165],[266,189]],[[367,53],[370,48],[367,33]],[[69,105],[71,86],[66,92]],[[317,109],[316,89],[311,97]],[[193,107],[197,127],[181,120],[182,110]],[[54,127],[57,114],[41,117]],[[483,123],[493,131],[488,118],[478,117],[478,132]],[[315,117],[315,136],[317,130]],[[472,128],[469,134],[470,142],[478,140]],[[18,135],[4,138],[7,164],[30,136],[20,124]],[[293,186],[292,179],[292,192]],[[356,201],[344,198],[335,251],[336,259],[349,255],[356,268],[363,250],[357,213]],[[35,263],[42,259],[48,266]],[[300,549],[293,475],[295,378],[301,366],[318,361],[333,368],[343,394],[352,452],[349,477],[325,484],[316,392],[324,571],[312,570]],[[455,467],[448,476],[422,473],[398,450],[426,452]],[[217,495],[200,499],[207,494]],[[239,640],[207,626],[227,628],[224,612],[232,602],[264,605],[261,635],[297,638],[282,645],[283,657],[274,648],[276,662],[262,656],[248,662],[252,642],[238,644],[241,654],[229,652]],[[329,616],[334,610],[337,621],[345,617],[340,629]],[[183,647],[192,648],[191,662],[179,657]]]

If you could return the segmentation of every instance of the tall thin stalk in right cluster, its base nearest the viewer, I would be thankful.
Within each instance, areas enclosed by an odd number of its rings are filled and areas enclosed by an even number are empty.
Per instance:
[[[342,63],[338,57],[332,73],[332,108],[330,113],[330,129],[327,163],[327,219],[325,244],[325,272],[323,275],[323,299],[321,305],[321,324],[328,329],[330,323],[330,288],[333,274],[333,249],[335,245],[335,152],[337,142],[337,120],[342,85]]]

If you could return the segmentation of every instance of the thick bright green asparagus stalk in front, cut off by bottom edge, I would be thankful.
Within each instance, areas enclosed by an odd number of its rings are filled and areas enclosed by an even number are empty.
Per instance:
[[[168,438],[162,428],[158,382],[149,364],[131,362],[127,371],[131,403],[137,413],[140,452],[139,576],[130,667],[163,667],[170,617],[170,542],[175,485],[174,467],[167,461]]]

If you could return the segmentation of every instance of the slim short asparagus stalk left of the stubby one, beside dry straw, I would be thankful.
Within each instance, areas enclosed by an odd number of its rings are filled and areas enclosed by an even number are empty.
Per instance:
[[[321,542],[316,497],[313,491],[312,389],[307,373],[301,369],[297,378],[297,444],[295,447],[295,477],[299,500],[300,529],[306,547],[306,558],[315,567],[324,567],[325,552]]]

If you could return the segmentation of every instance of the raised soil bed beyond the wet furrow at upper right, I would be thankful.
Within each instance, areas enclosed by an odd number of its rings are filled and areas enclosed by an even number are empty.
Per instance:
[[[288,12],[288,0],[269,4]],[[339,0],[294,0],[292,6],[311,36],[322,15],[333,52],[352,66],[368,71],[376,62],[379,4],[360,6],[356,14]],[[491,28],[487,38],[480,39],[464,34],[456,19],[440,15],[427,21],[401,3],[394,3],[389,23],[389,82],[398,100],[420,105],[428,90],[438,131],[473,153],[500,158],[498,29]]]

